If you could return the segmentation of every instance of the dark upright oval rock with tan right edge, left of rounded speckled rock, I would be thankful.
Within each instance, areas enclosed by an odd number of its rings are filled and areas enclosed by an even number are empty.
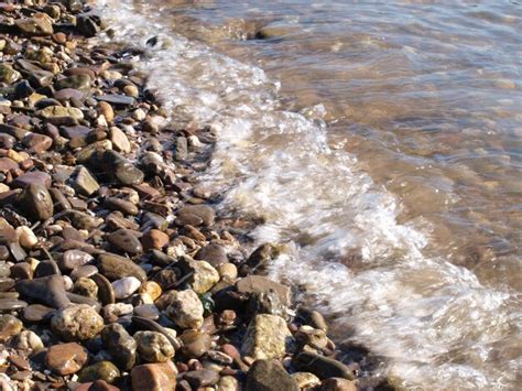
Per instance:
[[[130,370],[134,366],[138,345],[123,326],[116,323],[106,326],[101,340],[121,370]]]

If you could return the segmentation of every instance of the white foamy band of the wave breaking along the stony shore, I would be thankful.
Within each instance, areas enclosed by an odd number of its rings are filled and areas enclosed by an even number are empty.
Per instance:
[[[355,338],[387,357],[387,370],[411,387],[514,387],[520,357],[504,346],[520,330],[515,297],[481,286],[467,269],[425,258],[428,237],[396,222],[398,200],[354,156],[328,148],[324,108],[306,117],[284,111],[279,84],[262,69],[175,35],[131,1],[100,6],[117,39],[144,45],[159,36],[164,48],[140,63],[150,86],[174,116],[218,132],[205,180],[226,192],[222,210],[262,218],[252,232],[258,243],[295,243],[273,265],[274,278],[306,286],[305,300],[337,325],[354,326]],[[351,253],[361,256],[352,271],[339,262]]]

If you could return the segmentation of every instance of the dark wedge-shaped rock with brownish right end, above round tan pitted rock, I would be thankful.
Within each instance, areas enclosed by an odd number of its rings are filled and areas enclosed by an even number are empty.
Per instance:
[[[53,308],[63,308],[70,303],[65,294],[64,279],[59,275],[22,280],[17,282],[15,290],[22,296],[41,302]]]

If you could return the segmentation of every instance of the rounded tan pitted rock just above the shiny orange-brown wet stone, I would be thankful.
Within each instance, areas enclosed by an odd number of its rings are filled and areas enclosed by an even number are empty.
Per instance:
[[[59,309],[51,319],[51,328],[64,340],[87,340],[104,328],[104,319],[86,304]]]

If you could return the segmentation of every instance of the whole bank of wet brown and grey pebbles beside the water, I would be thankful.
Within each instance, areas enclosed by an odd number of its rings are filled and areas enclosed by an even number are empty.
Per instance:
[[[79,0],[0,3],[0,389],[356,390],[323,316]]]

